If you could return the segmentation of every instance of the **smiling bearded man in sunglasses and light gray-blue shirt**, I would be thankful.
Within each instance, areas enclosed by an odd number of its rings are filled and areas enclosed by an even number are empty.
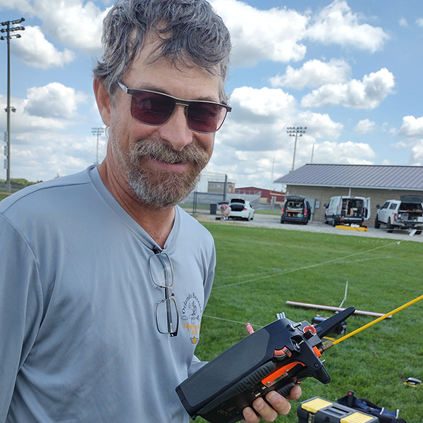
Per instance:
[[[176,204],[230,109],[230,39],[204,0],[122,0],[104,46],[106,158],[0,203],[0,422],[188,421],[215,253]],[[245,421],[288,412],[268,400]]]

